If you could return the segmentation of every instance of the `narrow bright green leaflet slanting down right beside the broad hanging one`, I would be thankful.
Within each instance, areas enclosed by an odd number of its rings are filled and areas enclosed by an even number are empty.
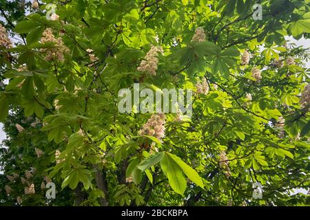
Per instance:
[[[190,180],[192,180],[197,186],[204,188],[203,179],[201,179],[196,170],[194,170],[192,167],[188,166],[185,162],[183,162],[182,159],[180,159],[180,157],[172,153],[167,153],[167,155],[169,155],[169,157],[171,157],[174,160],[174,162],[176,162],[176,164],[180,166],[180,168],[183,170],[185,175],[187,175],[187,177]]]

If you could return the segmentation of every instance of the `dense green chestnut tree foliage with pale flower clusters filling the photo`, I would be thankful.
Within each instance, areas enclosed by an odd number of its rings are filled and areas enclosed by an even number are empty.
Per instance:
[[[17,2],[0,5],[1,203],[310,203],[292,195],[310,188],[309,51],[286,42],[309,36],[309,0],[257,1],[262,20],[249,0]],[[134,83],[192,89],[192,117],[119,112]]]

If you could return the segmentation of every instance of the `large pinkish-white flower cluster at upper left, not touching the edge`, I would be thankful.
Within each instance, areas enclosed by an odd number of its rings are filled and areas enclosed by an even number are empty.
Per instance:
[[[68,54],[70,50],[63,44],[63,40],[59,37],[55,39],[55,36],[51,28],[46,28],[41,37],[41,43],[55,43],[53,48],[42,48],[41,52],[46,52],[45,59],[52,61],[54,59],[63,62],[65,60],[64,54]]]

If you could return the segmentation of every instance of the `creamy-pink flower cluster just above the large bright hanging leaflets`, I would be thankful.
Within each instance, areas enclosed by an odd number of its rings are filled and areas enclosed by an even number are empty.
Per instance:
[[[165,137],[165,114],[155,113],[143,124],[143,128],[139,131],[139,135],[154,136],[158,140]]]

